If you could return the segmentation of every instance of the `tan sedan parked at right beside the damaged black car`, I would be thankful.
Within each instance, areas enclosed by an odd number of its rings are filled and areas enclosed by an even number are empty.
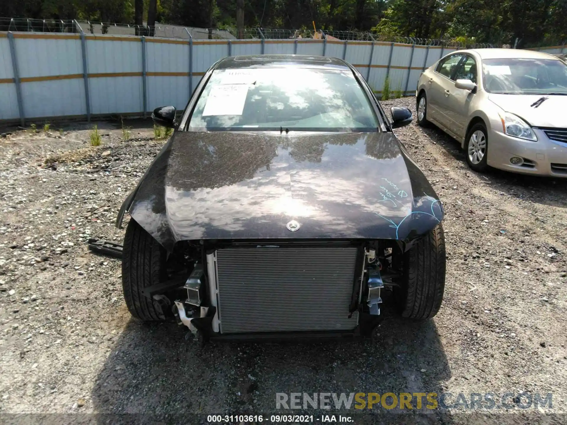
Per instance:
[[[567,64],[515,49],[452,52],[421,74],[417,122],[457,139],[476,171],[567,177]]]

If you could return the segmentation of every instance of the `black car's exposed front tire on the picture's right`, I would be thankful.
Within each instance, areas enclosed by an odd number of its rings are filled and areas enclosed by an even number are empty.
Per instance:
[[[425,320],[437,314],[445,291],[445,236],[439,223],[404,253],[403,278],[394,287],[402,317]]]

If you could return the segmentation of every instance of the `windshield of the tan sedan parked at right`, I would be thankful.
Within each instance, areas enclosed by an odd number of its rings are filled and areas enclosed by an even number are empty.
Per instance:
[[[514,95],[567,95],[567,65],[555,59],[485,59],[484,90]]]

